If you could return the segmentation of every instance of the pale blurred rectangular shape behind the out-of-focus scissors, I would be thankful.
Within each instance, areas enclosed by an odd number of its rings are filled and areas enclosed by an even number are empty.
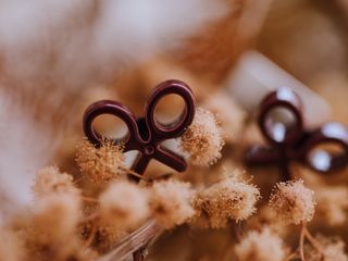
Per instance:
[[[257,51],[245,53],[226,82],[235,100],[249,112],[256,111],[270,91],[283,86],[301,98],[307,126],[330,120],[331,108],[324,99]]]

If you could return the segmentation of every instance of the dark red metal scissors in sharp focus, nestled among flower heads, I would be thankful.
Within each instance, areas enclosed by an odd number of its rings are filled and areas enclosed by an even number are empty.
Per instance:
[[[185,110],[177,121],[163,125],[156,120],[154,110],[160,99],[171,94],[183,98]],[[113,142],[122,142],[125,152],[130,150],[140,152],[132,165],[133,171],[144,174],[150,160],[156,159],[177,172],[183,172],[187,167],[185,160],[162,147],[161,142],[179,137],[191,124],[195,111],[195,98],[190,88],[179,80],[166,80],[153,88],[145,104],[145,116],[141,117],[136,117],[128,108],[116,101],[101,100],[92,103],[85,112],[84,132],[90,142],[100,146],[102,135],[92,127],[92,122],[99,115],[112,114],[120,117],[128,128],[126,137],[113,139]]]

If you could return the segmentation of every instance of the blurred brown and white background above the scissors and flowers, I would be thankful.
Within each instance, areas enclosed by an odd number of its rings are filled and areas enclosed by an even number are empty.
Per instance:
[[[347,69],[347,0],[2,0],[2,213],[30,202],[37,169],[78,173],[75,145],[96,100],[139,115],[151,88],[177,78],[199,104],[227,91],[248,117],[264,92],[290,85],[310,126],[348,124]]]

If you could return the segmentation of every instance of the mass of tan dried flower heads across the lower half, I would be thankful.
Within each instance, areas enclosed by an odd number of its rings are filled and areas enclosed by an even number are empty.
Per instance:
[[[225,109],[215,105],[217,113]],[[233,232],[223,258],[232,252],[231,258],[239,261],[348,260],[343,239],[313,235],[309,228],[315,215],[333,226],[347,223],[348,188],[318,181],[304,184],[307,174],[300,170],[303,176],[296,172],[265,196],[238,163],[226,164],[226,156],[233,153],[223,148],[236,142],[224,138],[227,124],[216,115],[197,108],[177,138],[189,162],[184,175],[148,178],[126,166],[122,140],[101,138],[97,146],[82,139],[76,163],[89,185],[79,185],[57,166],[39,170],[29,210],[2,227],[2,258],[123,260],[133,253],[134,260],[145,260],[164,231],[187,226]],[[241,115],[235,119],[245,121]],[[243,137],[243,130],[237,135]],[[207,172],[213,176],[207,177]]]

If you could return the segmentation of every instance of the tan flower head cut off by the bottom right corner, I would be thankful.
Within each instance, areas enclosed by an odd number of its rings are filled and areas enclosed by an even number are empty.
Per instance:
[[[321,246],[321,251],[311,248],[308,254],[308,261],[348,261],[345,252],[345,243],[339,238],[326,238],[321,235],[315,236],[315,240]]]

